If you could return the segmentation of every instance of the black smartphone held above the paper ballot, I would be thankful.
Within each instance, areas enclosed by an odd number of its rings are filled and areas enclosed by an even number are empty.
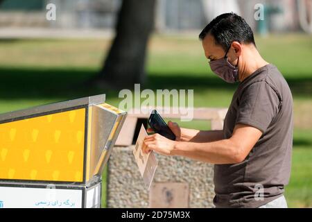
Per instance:
[[[155,133],[159,133],[168,139],[175,140],[174,133],[156,110],[153,110],[150,114],[150,118],[148,118],[148,124],[150,125],[150,128],[155,131]]]

